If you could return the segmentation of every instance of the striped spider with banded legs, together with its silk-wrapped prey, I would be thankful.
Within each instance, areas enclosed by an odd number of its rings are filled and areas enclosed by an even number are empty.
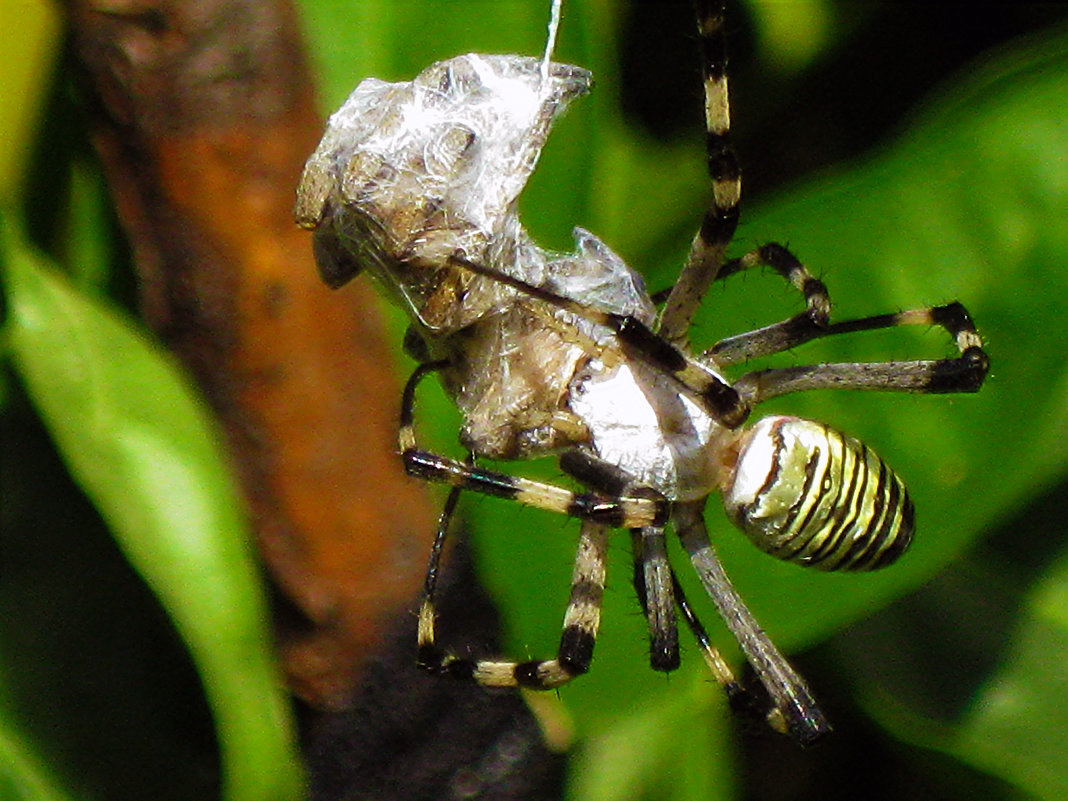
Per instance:
[[[723,2],[698,0],[711,203],[665,299],[593,234],[550,253],[519,222],[516,201],[549,128],[591,87],[580,67],[469,53],[410,82],[370,78],[331,116],[304,168],[295,217],[315,231],[327,284],[371,272],[408,311],[406,347],[421,362],[402,398],[399,450],[410,475],[451,486],[419,615],[419,664],[491,687],[548,690],[585,673],[600,625],[608,537],[628,529],[650,665],[679,664],[677,614],[736,706],[750,696],[711,645],[669,562],[674,529],[702,585],[767,690],[767,716],[802,744],[830,725],[804,680],[765,635],[709,541],[707,500],[760,549],[820,569],[870,570],[908,547],[913,506],[866,445],[821,423],[751,409],[790,392],[869,389],[975,392],[988,359],[959,303],[832,323],[827,287],[786,248],[726,251],[738,222],[740,170],[729,139]],[[691,319],[714,281],[769,268],[803,312],[695,351]],[[662,302],[662,305],[660,301]],[[658,307],[661,307],[658,309]],[[904,325],[938,326],[959,356],[828,363],[745,373],[724,368],[812,340]],[[437,374],[462,415],[466,460],[420,447],[419,383]],[[477,459],[559,455],[575,491],[480,467]],[[435,587],[461,491],[581,520],[556,655],[471,659],[438,645]]]

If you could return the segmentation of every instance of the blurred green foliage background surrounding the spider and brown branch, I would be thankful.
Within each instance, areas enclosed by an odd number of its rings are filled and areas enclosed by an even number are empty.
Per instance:
[[[309,0],[324,112],[370,75],[409,79],[470,50],[538,53],[546,6]],[[5,27],[17,18],[43,31],[5,44],[13,89],[0,98],[0,798],[202,798],[218,791],[220,769],[226,797],[292,797],[284,700],[270,689],[241,521],[210,423],[136,324],[115,321],[131,309],[128,255],[49,11],[0,9]],[[38,12],[44,21],[30,25]],[[917,540],[885,572],[779,564],[710,504],[728,571],[798,654],[837,727],[831,742],[800,752],[736,732],[692,647],[678,674],[651,673],[624,538],[592,673],[560,693],[581,738],[568,792],[1066,798],[1063,6],[754,1],[729,13],[745,192],[735,251],[787,244],[828,284],[838,319],[959,299],[993,371],[976,396],[820,392],[768,405],[864,439],[909,483]],[[587,227],[653,288],[670,285],[707,199],[691,25],[686,3],[567,3],[556,58],[591,68],[597,85],[560,123],[522,203],[545,245],[569,249],[570,227]],[[774,277],[739,277],[713,287],[694,340],[798,307]],[[770,363],[938,358],[952,354],[945,339],[897,329]],[[146,376],[156,389],[131,397]],[[424,418],[447,450],[455,415],[426,394]],[[551,465],[521,470],[555,475]],[[173,471],[188,487],[179,502]],[[489,499],[468,499],[464,514],[509,653],[547,653],[575,524]],[[198,570],[210,582],[191,579]],[[234,627],[248,635],[220,644],[218,631]],[[248,681],[263,692],[234,690]]]

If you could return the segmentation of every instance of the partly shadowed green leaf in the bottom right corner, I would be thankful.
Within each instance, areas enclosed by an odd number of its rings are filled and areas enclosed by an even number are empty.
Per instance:
[[[1052,534],[1053,532],[1049,532]],[[1035,799],[1068,794],[1068,553],[1032,580],[983,549],[835,641],[869,713]]]

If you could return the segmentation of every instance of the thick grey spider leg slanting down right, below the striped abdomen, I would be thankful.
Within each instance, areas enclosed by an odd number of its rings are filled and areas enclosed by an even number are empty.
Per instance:
[[[711,597],[720,616],[741,646],[760,682],[771,696],[771,725],[808,745],[831,731],[812,692],[780,654],[745,607],[727,578],[711,543],[702,515],[704,501],[676,505],[675,527],[679,540]]]

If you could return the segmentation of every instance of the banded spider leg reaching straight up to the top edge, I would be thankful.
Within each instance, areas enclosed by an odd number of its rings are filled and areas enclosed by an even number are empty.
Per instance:
[[[741,170],[731,146],[724,2],[696,0],[695,6],[705,87],[705,147],[712,199],[660,317],[660,334],[672,343],[686,342],[693,314],[717,278],[738,226],[741,198]]]

